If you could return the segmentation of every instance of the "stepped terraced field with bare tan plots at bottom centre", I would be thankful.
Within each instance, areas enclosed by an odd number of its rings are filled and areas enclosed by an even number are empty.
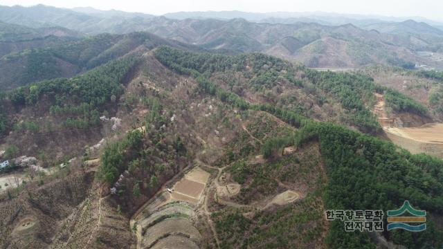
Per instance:
[[[137,248],[199,248],[202,237],[195,228],[195,208],[209,173],[190,170],[172,187],[160,192],[135,216]]]

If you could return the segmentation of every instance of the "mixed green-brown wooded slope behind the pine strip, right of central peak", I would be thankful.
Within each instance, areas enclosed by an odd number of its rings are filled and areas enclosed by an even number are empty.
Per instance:
[[[248,87],[252,91],[262,91],[266,95],[266,89],[277,88],[277,95],[281,96],[284,95],[282,82],[289,82],[292,87],[305,91],[306,95],[316,93],[316,102],[320,107],[327,102],[339,102],[344,110],[340,113],[341,119],[338,121],[358,127],[365,132],[377,133],[380,130],[375,116],[370,111],[375,101],[374,93],[377,92],[388,95],[388,104],[394,111],[426,116],[426,108],[415,100],[392,89],[379,86],[371,77],[358,73],[318,72],[304,66],[294,67],[282,59],[261,54],[232,57],[193,54],[161,47],[156,50],[156,57],[181,73],[197,77],[200,82],[205,82],[207,78],[215,78],[218,72],[233,75],[241,73],[244,78],[223,79],[228,88],[235,93],[242,93],[244,88]],[[236,91],[236,89],[242,89],[242,91]],[[215,90],[211,91],[215,92]],[[323,96],[319,96],[322,93]],[[290,98],[284,104],[291,104],[291,101],[296,102],[297,99]],[[300,109],[293,111],[307,115],[306,111]]]

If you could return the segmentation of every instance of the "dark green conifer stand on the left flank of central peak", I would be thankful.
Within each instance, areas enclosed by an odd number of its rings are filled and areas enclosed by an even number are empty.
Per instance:
[[[123,93],[125,77],[136,63],[136,57],[124,57],[69,79],[57,78],[20,86],[7,96],[16,108],[32,106],[45,98],[51,104],[49,113],[66,119],[64,127],[85,129],[100,123],[100,112],[107,105],[114,104],[112,99],[115,102]],[[0,113],[0,131],[6,125],[1,117]],[[26,126],[22,124],[17,127],[23,128]]]

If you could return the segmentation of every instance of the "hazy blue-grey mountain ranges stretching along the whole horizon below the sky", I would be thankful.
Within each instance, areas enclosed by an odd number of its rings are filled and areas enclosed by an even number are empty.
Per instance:
[[[440,28],[412,19],[320,14],[177,12],[155,17],[39,5],[2,6],[0,21],[32,28],[61,26],[79,35],[145,31],[210,50],[262,52],[320,68],[368,64],[443,67]]]

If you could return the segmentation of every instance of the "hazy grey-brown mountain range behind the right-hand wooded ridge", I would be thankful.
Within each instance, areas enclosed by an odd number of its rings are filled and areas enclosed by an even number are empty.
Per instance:
[[[437,51],[442,44],[438,32],[397,35],[365,30],[352,24],[266,24],[246,19],[177,20],[158,17],[151,19],[145,30],[208,49],[257,51],[312,67],[429,64],[416,54],[416,50]]]

